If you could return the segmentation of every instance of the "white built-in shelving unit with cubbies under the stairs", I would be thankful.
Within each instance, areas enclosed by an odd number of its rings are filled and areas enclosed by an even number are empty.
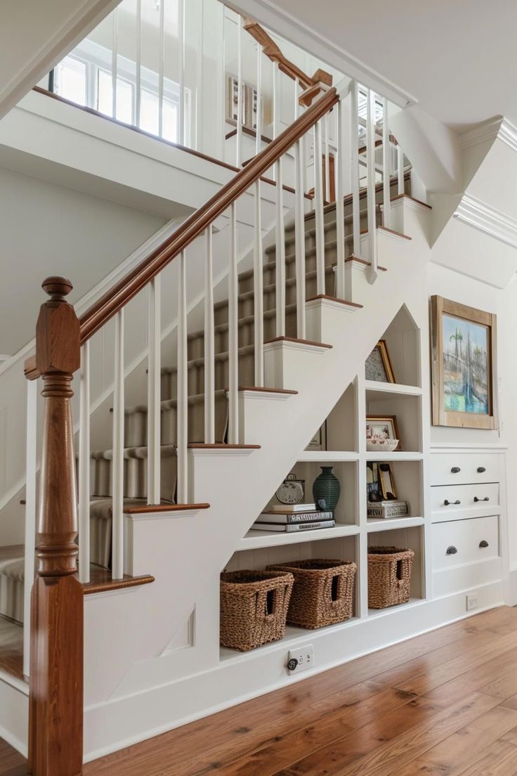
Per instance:
[[[288,625],[282,646],[289,646],[312,633],[332,631],[346,637],[346,630],[367,618],[390,616],[403,608],[418,606],[426,599],[426,499],[424,497],[424,433],[422,417],[422,365],[419,329],[405,307],[398,312],[382,337],[386,341],[397,383],[365,379],[364,372],[346,386],[339,401],[318,432],[322,449],[303,450],[292,467],[298,480],[305,480],[305,501],[313,501],[312,483],[322,466],[332,466],[341,484],[334,514],[336,526],[322,530],[281,533],[251,529],[239,545],[227,570],[264,568],[270,563],[308,558],[341,558],[357,563],[353,617],[321,631],[306,631]],[[367,416],[397,418],[402,449],[385,454],[367,452]],[[317,430],[315,430],[316,432]],[[367,464],[387,462],[392,469],[397,497],[408,501],[409,514],[402,518],[367,518]],[[288,474],[287,472],[285,474]],[[277,503],[272,497],[270,504]],[[411,598],[407,604],[388,609],[369,609],[367,597],[367,549],[398,546],[415,553]],[[246,660],[248,656],[274,650],[278,642],[250,653],[222,649],[221,660]]]

